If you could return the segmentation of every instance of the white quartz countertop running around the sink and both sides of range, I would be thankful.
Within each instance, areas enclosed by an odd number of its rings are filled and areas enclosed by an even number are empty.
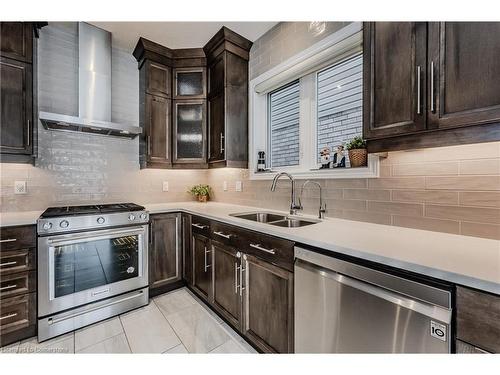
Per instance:
[[[299,244],[500,294],[498,240],[333,218],[300,228],[282,228],[230,216],[241,212],[266,211],[265,209],[217,202],[175,202],[144,206],[152,214],[183,211],[286,238]],[[40,213],[2,213],[0,224],[34,224]]]

